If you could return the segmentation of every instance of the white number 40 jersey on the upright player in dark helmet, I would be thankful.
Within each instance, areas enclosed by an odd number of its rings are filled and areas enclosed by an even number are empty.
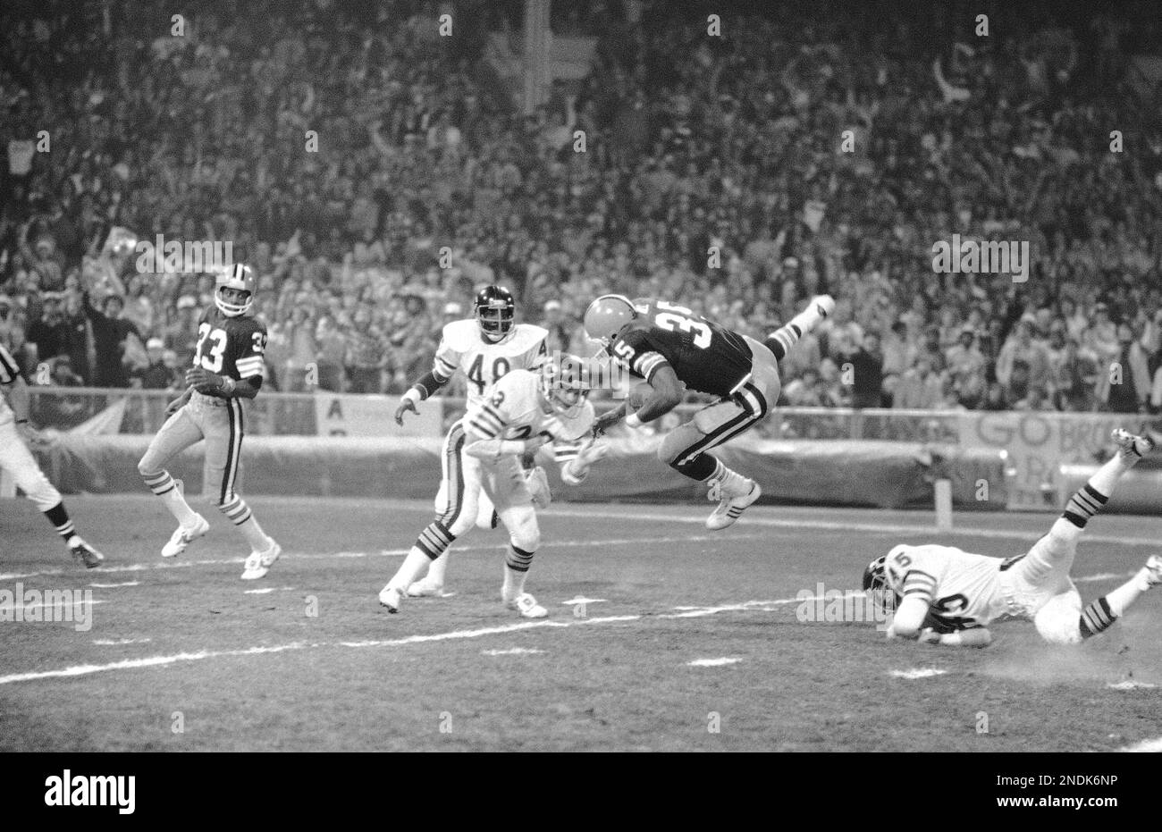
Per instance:
[[[548,330],[531,323],[512,324],[495,344],[485,340],[475,318],[453,321],[444,327],[436,350],[435,371],[451,379],[457,370],[468,379],[468,407],[483,401],[485,390],[512,370],[536,370],[545,360]]]

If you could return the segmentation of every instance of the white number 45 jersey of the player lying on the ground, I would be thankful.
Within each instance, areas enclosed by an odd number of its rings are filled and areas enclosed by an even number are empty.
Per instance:
[[[884,567],[892,588],[918,596],[928,612],[954,627],[985,625],[1006,615],[1000,593],[1000,558],[955,546],[896,546]]]

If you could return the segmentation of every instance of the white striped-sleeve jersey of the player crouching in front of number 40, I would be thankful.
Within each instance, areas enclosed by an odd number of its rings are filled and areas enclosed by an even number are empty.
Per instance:
[[[488,396],[468,406],[464,425],[485,439],[530,439],[545,436],[574,444],[593,430],[596,415],[588,400],[572,417],[562,416],[543,403],[540,374],[514,370],[493,385]]]

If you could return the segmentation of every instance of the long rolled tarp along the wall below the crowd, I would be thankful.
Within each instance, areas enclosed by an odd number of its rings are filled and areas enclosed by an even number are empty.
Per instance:
[[[137,460],[148,436],[65,436],[37,456],[65,493],[142,492]],[[610,439],[609,456],[578,488],[546,466],[560,501],[687,502],[705,488],[658,459],[659,437]],[[188,494],[202,490],[203,444],[170,466]],[[254,436],[243,445],[242,494],[433,499],[440,439]],[[741,437],[715,451],[755,478],[765,502],[878,508],[928,507],[932,481],[953,482],[960,509],[1000,509],[1007,499],[1004,456],[954,445],[867,440],[781,440]],[[982,488],[983,483],[983,488]],[[983,496],[982,496],[983,494]]]

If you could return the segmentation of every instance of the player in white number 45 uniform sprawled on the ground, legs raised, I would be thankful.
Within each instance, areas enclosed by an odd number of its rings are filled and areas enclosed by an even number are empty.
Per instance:
[[[894,598],[889,638],[925,644],[987,647],[988,625],[1026,618],[1052,644],[1078,644],[1110,627],[1138,597],[1162,583],[1155,554],[1129,581],[1082,607],[1069,578],[1086,522],[1105,505],[1114,485],[1154,443],[1113,431],[1114,456],[1074,494],[1049,533],[1025,554],[1002,560],[952,546],[896,546],[863,571],[871,597]]]

